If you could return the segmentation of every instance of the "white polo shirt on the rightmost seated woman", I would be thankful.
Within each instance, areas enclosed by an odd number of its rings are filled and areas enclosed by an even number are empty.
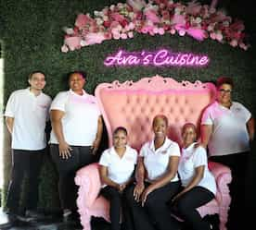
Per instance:
[[[207,152],[201,146],[195,148],[195,144],[196,143],[193,143],[186,149],[182,149],[178,167],[182,186],[186,187],[195,176],[196,168],[204,165],[204,174],[202,179],[199,181],[198,186],[207,188],[213,194],[216,194],[216,182],[208,168]]]

